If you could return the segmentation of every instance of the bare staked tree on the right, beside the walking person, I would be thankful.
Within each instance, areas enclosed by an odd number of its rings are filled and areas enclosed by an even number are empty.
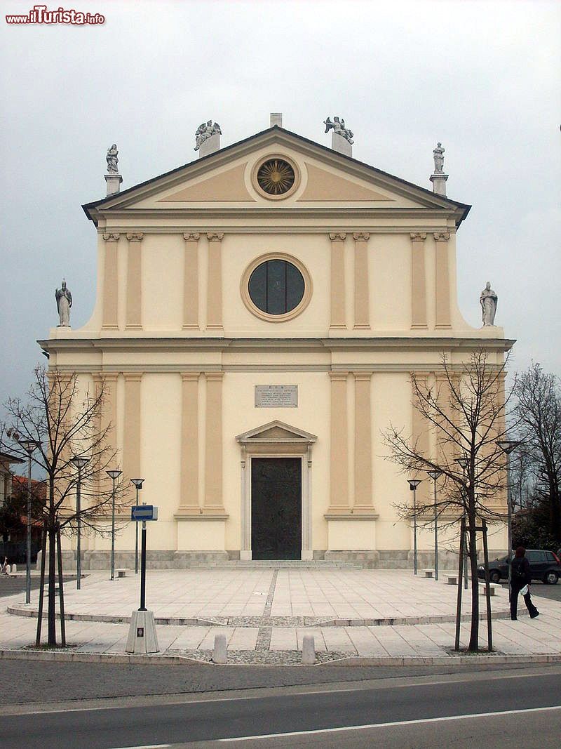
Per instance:
[[[423,420],[423,435],[410,437],[393,425],[385,433],[389,459],[403,473],[417,476],[429,470],[442,474],[438,500],[428,498],[411,506],[397,505],[405,518],[414,515],[426,521],[436,512],[449,518],[448,527],[457,529],[466,518],[468,560],[471,572],[471,626],[468,650],[479,649],[479,598],[476,527],[481,521],[506,519],[505,455],[497,444],[506,437],[504,369],[490,363],[482,349],[474,351],[461,366],[441,356],[441,371],[435,383],[412,375],[413,405]],[[429,432],[435,434],[436,450],[429,449]],[[451,519],[450,519],[451,518]]]

